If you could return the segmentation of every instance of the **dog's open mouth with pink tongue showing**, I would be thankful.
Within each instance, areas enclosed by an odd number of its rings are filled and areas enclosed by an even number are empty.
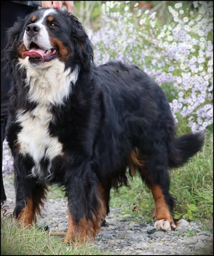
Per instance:
[[[56,57],[57,50],[55,48],[51,48],[48,50],[44,50],[40,48],[37,44],[31,43],[30,50],[22,53],[22,58],[29,57],[32,61],[51,61]]]

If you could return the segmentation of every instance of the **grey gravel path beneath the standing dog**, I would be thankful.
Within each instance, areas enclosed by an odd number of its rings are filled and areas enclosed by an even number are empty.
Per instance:
[[[7,199],[14,207],[12,159],[4,143],[3,178]],[[101,252],[121,255],[213,255],[213,234],[202,230],[200,222],[182,221],[183,227],[175,231],[157,231],[153,223],[136,222],[131,215],[118,214],[110,209],[107,225],[96,235],[94,244]],[[38,218],[39,225],[48,225],[51,231],[67,230],[67,202],[65,199],[48,199]],[[211,223],[212,225],[212,223]]]

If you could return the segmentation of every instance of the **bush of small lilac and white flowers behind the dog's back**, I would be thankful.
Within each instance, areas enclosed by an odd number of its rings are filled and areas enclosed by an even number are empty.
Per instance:
[[[170,93],[172,113],[187,118],[192,131],[213,123],[213,3],[195,1],[169,6],[172,22],[162,25],[156,12],[130,10],[130,1],[106,1],[102,27],[88,30],[95,63],[117,59],[133,62]],[[166,91],[165,90],[165,91]]]

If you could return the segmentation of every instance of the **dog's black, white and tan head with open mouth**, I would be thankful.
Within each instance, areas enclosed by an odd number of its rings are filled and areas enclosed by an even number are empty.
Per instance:
[[[25,66],[45,68],[56,59],[66,67],[89,70],[93,48],[78,19],[66,10],[40,9],[19,19],[7,32],[7,62],[17,59]]]

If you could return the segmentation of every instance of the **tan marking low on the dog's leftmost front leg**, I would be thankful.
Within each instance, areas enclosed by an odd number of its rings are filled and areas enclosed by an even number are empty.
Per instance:
[[[36,222],[36,214],[32,198],[27,199],[26,206],[24,206],[21,213],[19,214],[18,220],[21,223],[21,225],[29,227],[33,222]]]

